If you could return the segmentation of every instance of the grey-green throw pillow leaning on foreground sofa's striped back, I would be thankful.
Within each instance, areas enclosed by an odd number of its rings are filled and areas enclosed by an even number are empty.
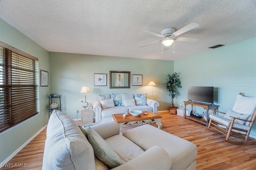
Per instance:
[[[104,164],[108,165],[111,169],[123,164],[118,154],[110,148],[106,141],[104,141],[96,131],[89,127],[87,135],[88,141],[94,150],[94,154],[104,162]]]

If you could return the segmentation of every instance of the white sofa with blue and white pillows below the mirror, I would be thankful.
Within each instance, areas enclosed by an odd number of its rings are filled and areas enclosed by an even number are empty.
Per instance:
[[[159,103],[155,100],[150,100],[146,98],[146,94],[134,93],[134,94],[124,94],[124,93],[110,93],[99,95],[99,100],[96,100],[93,104],[93,111],[95,112],[95,121],[103,121],[108,122],[112,121],[112,114],[117,113],[129,113],[132,110],[140,110],[140,111],[152,111],[157,114],[157,109]],[[113,101],[111,101],[111,99]],[[134,100],[135,102],[128,103],[126,105],[126,101]],[[105,101],[113,102],[113,104],[109,104],[106,102],[106,106],[104,107]]]

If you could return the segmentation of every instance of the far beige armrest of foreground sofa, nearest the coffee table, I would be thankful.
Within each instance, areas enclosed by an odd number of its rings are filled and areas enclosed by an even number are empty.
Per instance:
[[[89,127],[86,127],[84,129],[87,131],[88,128]],[[90,126],[90,128],[96,131],[103,139],[120,134],[120,126],[116,121],[100,123],[98,125]]]

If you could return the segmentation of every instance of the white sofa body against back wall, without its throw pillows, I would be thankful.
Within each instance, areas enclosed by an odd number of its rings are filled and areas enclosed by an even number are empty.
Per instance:
[[[100,95],[99,95],[100,96]],[[122,100],[122,99],[121,99]],[[114,106],[102,108],[100,100],[96,100],[93,104],[93,111],[95,112],[95,121],[108,122],[112,121],[112,114],[129,113],[132,110],[152,111],[157,114],[159,103],[155,100],[146,99],[147,106]]]

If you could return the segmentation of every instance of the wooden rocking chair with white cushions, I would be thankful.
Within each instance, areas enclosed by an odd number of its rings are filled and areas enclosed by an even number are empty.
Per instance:
[[[225,115],[222,117],[216,113]],[[256,140],[248,141],[256,118],[256,98],[244,97],[242,93],[239,93],[232,111],[228,110],[227,113],[223,113],[212,110],[209,117],[210,121],[206,129],[225,135],[224,141],[234,145],[256,145]]]

